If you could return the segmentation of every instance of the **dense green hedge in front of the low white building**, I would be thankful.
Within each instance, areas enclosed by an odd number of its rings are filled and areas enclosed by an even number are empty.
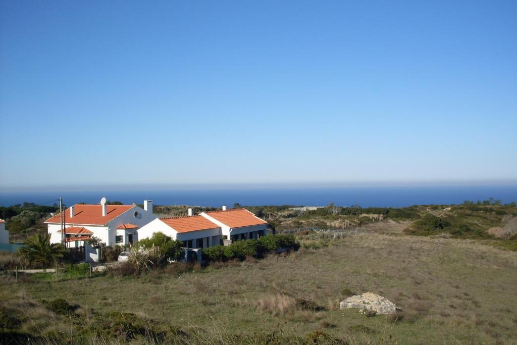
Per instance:
[[[229,246],[215,246],[203,249],[203,260],[244,260],[246,257],[262,258],[265,254],[281,248],[298,250],[300,244],[292,234],[266,235],[258,239],[236,241]]]

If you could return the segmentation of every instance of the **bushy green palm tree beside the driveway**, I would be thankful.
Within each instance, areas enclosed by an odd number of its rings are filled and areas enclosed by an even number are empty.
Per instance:
[[[18,252],[29,262],[37,263],[42,267],[48,267],[57,260],[65,258],[68,254],[62,244],[50,244],[50,234],[31,236],[27,239],[25,245],[26,247],[20,248]]]

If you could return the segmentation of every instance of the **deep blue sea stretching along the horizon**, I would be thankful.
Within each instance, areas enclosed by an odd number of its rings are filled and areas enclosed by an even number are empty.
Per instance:
[[[418,186],[418,187],[323,187],[323,188],[221,188],[167,190],[91,190],[78,192],[0,192],[0,205],[23,202],[43,203],[62,197],[66,205],[79,202],[99,203],[101,197],[125,204],[153,200],[155,205],[220,206],[306,205],[339,206],[359,204],[362,207],[401,207],[415,204],[458,204],[464,200],[493,198],[503,203],[517,201],[513,186]],[[52,204],[52,203],[51,203]]]

